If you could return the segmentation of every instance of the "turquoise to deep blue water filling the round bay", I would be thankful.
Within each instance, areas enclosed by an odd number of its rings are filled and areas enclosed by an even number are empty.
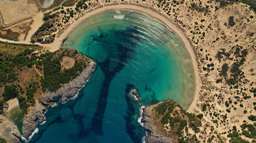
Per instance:
[[[63,47],[97,61],[76,100],[51,108],[32,142],[141,142],[138,108],[173,99],[188,107],[194,94],[191,61],[179,37],[134,11],[107,11],[83,21]],[[128,87],[137,88],[135,102]]]

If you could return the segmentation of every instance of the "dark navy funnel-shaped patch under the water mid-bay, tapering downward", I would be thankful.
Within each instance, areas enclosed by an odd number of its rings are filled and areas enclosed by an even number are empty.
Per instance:
[[[115,45],[115,48],[112,48],[114,49],[113,51],[111,49],[109,50],[109,55],[107,59],[101,63],[98,63],[101,67],[101,70],[105,74],[105,79],[103,82],[103,86],[101,87],[97,110],[94,114],[91,125],[91,129],[98,135],[103,135],[103,118],[106,110],[110,83],[112,82],[113,77],[115,77],[115,75],[125,67],[125,64],[127,64],[129,58],[134,55],[134,48],[137,43],[131,41],[131,36],[137,35],[138,33],[138,30],[129,28],[126,30],[114,30],[110,33],[102,32],[101,35],[98,36],[98,38],[95,38],[95,35],[92,35],[92,37],[94,37],[94,41],[106,43],[106,47]],[[111,35],[119,35],[118,38],[121,42],[115,41],[115,43],[112,43],[114,41],[109,41],[109,39],[103,39],[104,37],[109,37]],[[137,40],[140,41],[141,38],[137,38]],[[124,45],[122,41],[127,41],[127,44]],[[112,66],[113,64],[115,64],[116,66]]]

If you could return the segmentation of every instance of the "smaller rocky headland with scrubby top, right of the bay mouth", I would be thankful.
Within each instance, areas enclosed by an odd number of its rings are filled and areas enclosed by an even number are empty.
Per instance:
[[[203,114],[192,114],[173,100],[160,101],[144,108],[141,122],[151,142],[195,142]],[[189,135],[185,136],[185,133]]]

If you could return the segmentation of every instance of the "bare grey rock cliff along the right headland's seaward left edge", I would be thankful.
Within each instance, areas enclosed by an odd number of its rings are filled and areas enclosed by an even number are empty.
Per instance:
[[[156,104],[157,105],[157,104]],[[159,131],[158,126],[155,124],[155,121],[152,116],[152,109],[155,105],[150,105],[144,108],[143,118],[141,122],[144,123],[144,130],[147,132],[147,136],[144,139],[147,143],[171,143],[174,142],[170,136],[165,135],[165,133]]]

